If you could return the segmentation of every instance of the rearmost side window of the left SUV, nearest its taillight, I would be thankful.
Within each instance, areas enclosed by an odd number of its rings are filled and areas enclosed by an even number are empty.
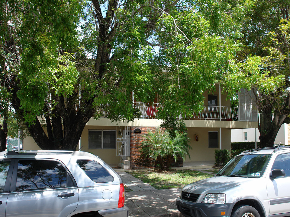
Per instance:
[[[77,160],[78,165],[94,182],[111,182],[114,178],[98,162],[92,160]]]

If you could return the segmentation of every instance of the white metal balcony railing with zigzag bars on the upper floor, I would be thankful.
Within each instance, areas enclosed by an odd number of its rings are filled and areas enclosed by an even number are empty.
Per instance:
[[[159,103],[142,103],[134,102],[134,105],[139,108],[141,118],[155,118],[158,108],[161,106]],[[238,107],[221,106],[203,106],[204,109],[198,113],[193,113],[191,117],[181,114],[181,119],[192,120],[221,120],[223,121],[237,121],[238,120]],[[177,117],[179,118],[179,117]]]

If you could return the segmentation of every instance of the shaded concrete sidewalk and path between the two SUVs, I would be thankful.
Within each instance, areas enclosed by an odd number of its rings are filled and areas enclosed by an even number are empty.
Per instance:
[[[126,172],[117,173],[124,186],[133,190],[125,192],[125,206],[130,209],[130,217],[183,217],[176,207],[176,198],[181,189],[157,190]]]

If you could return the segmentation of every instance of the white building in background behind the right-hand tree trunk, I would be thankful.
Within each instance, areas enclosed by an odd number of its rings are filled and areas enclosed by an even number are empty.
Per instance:
[[[260,132],[258,128],[231,130],[231,142],[259,142]],[[290,124],[282,124],[275,139],[275,144],[290,145]]]

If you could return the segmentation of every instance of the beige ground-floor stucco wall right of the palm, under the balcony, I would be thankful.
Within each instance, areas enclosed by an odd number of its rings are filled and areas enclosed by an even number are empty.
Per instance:
[[[217,148],[208,147],[208,131],[218,131],[219,128],[188,128],[188,137],[190,139],[189,144],[192,149],[189,151],[189,157],[186,157],[185,162],[188,161],[213,161],[214,150],[220,149],[220,144]],[[198,141],[195,141],[195,135],[198,134]],[[218,138],[219,141],[219,138]],[[219,142],[218,142],[219,143]],[[230,129],[221,129],[221,149],[230,150]]]

